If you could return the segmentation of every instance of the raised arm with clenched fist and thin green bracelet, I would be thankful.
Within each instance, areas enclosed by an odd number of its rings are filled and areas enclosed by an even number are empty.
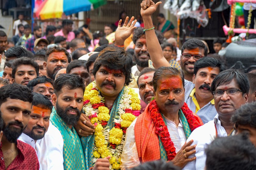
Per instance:
[[[158,42],[155,30],[151,29],[154,27],[151,15],[156,11],[158,5],[162,2],[157,2],[156,4],[151,0],[144,0],[140,3],[140,15],[144,21],[144,29],[146,34],[146,43],[148,52],[152,62],[156,69],[162,66],[170,66],[169,62],[165,59],[160,43]],[[151,29],[151,30],[147,30]]]

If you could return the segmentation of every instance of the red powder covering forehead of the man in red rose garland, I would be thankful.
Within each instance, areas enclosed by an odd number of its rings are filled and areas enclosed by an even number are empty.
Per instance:
[[[160,80],[160,91],[166,90],[166,89],[182,89],[182,80],[179,76],[172,76],[167,79]]]

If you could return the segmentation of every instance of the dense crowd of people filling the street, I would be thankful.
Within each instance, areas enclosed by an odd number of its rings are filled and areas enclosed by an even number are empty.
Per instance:
[[[67,19],[31,35],[22,15],[0,31],[0,169],[255,169],[255,71],[226,68],[220,39],[179,49],[160,4],[104,36]]]

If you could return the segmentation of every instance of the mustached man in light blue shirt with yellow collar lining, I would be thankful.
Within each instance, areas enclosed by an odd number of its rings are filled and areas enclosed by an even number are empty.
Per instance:
[[[203,57],[195,62],[193,83],[185,81],[185,102],[204,124],[217,114],[210,88],[212,81],[223,70],[226,68],[221,61]]]

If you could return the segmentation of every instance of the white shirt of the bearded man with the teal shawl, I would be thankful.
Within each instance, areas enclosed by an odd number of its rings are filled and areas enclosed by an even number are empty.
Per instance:
[[[59,129],[50,121],[48,131],[40,141],[41,158],[39,162],[41,162],[43,170],[64,169],[63,145],[64,142]]]

